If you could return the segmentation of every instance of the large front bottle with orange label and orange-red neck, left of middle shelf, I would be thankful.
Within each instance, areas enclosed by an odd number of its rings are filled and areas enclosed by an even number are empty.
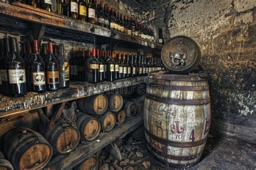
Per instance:
[[[59,89],[59,67],[58,61],[53,54],[53,44],[48,43],[48,56],[46,59],[46,87],[50,91]]]

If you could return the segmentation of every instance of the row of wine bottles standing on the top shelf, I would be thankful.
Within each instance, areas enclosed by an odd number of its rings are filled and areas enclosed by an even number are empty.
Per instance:
[[[152,28],[140,24],[134,18],[123,16],[123,13],[110,8],[108,4],[103,6],[102,2],[97,3],[97,0],[22,0],[21,2],[156,42]],[[162,43],[161,38],[159,43]]]

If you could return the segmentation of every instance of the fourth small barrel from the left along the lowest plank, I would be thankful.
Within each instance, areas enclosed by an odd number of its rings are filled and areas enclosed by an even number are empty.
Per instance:
[[[102,115],[98,115],[98,120],[102,125],[102,130],[106,132],[111,131],[116,125],[116,115],[109,111]]]

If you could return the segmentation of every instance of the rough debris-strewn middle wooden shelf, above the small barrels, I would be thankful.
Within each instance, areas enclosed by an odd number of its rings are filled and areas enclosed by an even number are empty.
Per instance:
[[[23,97],[0,96],[0,118],[12,114],[33,110],[47,105],[63,103],[64,101],[75,100],[94,94],[115,90],[120,87],[137,85],[144,82],[144,77],[126,78],[112,82],[91,84],[86,82],[71,82],[67,89],[60,89],[53,92],[35,93],[28,92]]]

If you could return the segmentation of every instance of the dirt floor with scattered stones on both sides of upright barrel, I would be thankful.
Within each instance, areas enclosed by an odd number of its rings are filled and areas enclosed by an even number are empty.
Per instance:
[[[132,138],[133,137],[133,138]],[[134,139],[135,138],[135,139]],[[136,140],[137,139],[137,140]],[[124,146],[132,146],[130,155]],[[122,149],[123,148],[123,149]],[[126,150],[126,151],[124,151]],[[168,169],[154,160],[153,155],[147,150],[145,138],[142,134],[131,134],[123,140],[120,151],[123,160],[117,165],[109,162],[109,169]],[[129,158],[127,158],[129,157]],[[100,166],[105,161],[100,162]],[[219,137],[210,134],[201,161],[194,167],[187,169],[255,169],[256,145],[233,137]],[[105,169],[103,167],[99,168]],[[107,169],[107,168],[106,168]],[[172,169],[172,168],[169,168]]]

